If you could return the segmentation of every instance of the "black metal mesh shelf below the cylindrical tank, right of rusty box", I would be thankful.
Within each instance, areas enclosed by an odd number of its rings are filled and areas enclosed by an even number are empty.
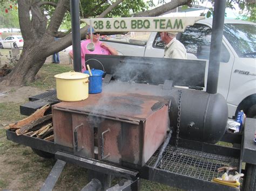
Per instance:
[[[153,166],[156,162],[159,151],[147,162],[147,166]],[[210,154],[201,151],[177,148],[168,145],[163,153],[161,167],[168,172],[182,174],[193,178],[211,181],[213,178],[221,177],[218,168],[223,166],[239,167],[239,160],[231,157],[224,157],[217,154]]]

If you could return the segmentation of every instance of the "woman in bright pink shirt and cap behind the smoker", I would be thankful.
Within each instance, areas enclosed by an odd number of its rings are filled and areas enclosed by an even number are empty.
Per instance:
[[[90,27],[87,30],[88,39],[82,41],[81,43],[81,62],[82,62],[82,72],[86,70],[85,67],[85,54],[105,54],[105,55],[117,55],[116,49],[112,48],[111,46],[107,45],[106,43],[102,43],[99,41],[100,33],[95,32],[95,30],[92,28],[92,41],[95,45],[94,51],[89,51],[86,46],[87,44],[91,43],[91,36],[90,36],[91,30]],[[73,59],[73,51],[71,50],[69,52],[70,57]]]

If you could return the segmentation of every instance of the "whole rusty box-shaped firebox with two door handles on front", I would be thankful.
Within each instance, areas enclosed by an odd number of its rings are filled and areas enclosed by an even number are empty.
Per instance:
[[[81,157],[142,167],[164,141],[168,103],[159,96],[104,92],[55,104],[55,143]]]

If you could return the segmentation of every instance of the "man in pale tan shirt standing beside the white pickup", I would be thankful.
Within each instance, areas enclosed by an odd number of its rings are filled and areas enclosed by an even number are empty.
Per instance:
[[[164,48],[164,58],[187,59],[186,48],[176,39],[176,34],[160,32],[160,37],[166,44]]]

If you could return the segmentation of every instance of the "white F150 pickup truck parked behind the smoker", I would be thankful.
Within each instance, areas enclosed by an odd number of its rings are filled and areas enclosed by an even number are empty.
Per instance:
[[[184,44],[188,59],[206,60],[207,84],[212,19],[200,20],[188,26],[177,39]],[[105,39],[120,55],[163,57],[165,44],[159,33],[144,33],[141,37],[129,35]],[[228,116],[244,110],[247,117],[256,117],[256,24],[241,20],[225,20],[218,93],[228,104]]]

